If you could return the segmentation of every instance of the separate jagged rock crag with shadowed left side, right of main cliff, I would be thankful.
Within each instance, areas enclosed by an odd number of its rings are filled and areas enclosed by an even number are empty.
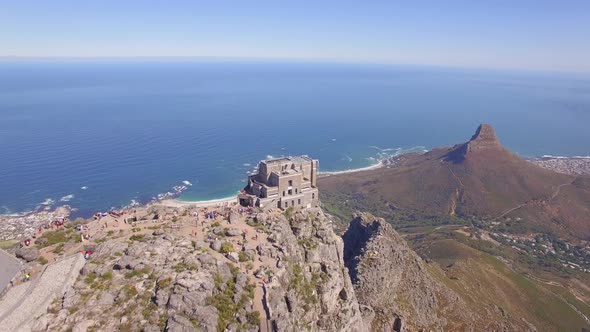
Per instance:
[[[461,306],[459,297],[436,283],[422,259],[383,219],[358,213],[343,236],[344,260],[373,331],[442,330],[440,313]]]

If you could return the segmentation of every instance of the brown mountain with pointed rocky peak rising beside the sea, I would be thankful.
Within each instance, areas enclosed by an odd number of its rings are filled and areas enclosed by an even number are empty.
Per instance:
[[[504,148],[494,128],[480,125],[450,148],[407,155],[396,167],[320,179],[324,192],[348,193],[374,206],[476,216],[514,217],[523,231],[590,239],[590,181],[536,166]]]

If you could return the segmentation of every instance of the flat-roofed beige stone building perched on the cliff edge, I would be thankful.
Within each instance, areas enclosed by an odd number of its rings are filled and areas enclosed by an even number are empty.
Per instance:
[[[258,173],[248,177],[248,185],[238,195],[239,203],[263,209],[316,207],[318,165],[307,156],[263,160]]]

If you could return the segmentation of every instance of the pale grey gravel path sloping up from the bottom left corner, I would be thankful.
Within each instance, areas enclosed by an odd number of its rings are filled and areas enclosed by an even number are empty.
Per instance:
[[[36,283],[33,287],[27,285],[26,291],[23,292],[20,287],[11,289],[5,300],[11,298],[12,305],[7,305],[4,301],[0,303],[0,308],[9,308],[8,316],[0,321],[0,331],[30,331],[34,318],[45,313],[56,296],[64,294],[76,281],[84,264],[84,257],[75,254],[49,265],[39,279],[33,281]],[[18,298],[18,301],[14,301],[14,298]]]

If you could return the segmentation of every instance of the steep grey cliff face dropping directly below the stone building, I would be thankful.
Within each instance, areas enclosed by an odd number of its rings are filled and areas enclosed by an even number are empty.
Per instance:
[[[320,209],[266,219],[281,266],[266,286],[267,313],[277,331],[368,331],[343,261],[342,239]]]

